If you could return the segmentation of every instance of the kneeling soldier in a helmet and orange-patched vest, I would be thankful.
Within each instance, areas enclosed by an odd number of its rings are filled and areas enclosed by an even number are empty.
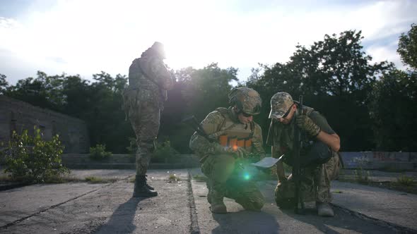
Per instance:
[[[227,212],[223,197],[235,199],[247,210],[259,211],[264,206],[264,196],[254,181],[241,179],[239,161],[249,152],[264,156],[262,130],[253,122],[253,116],[261,111],[262,100],[258,92],[247,87],[233,89],[228,97],[228,109],[218,108],[201,122],[207,135],[216,141],[209,142],[194,133],[189,147],[201,156],[211,212]]]

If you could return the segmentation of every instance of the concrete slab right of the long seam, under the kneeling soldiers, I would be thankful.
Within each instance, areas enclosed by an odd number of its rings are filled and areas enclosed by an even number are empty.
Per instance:
[[[191,171],[198,174],[198,170]],[[307,209],[307,214],[297,215],[292,210],[281,210],[274,202],[276,181],[258,183],[266,204],[260,212],[245,211],[233,199],[224,199],[228,214],[211,214],[206,200],[204,182],[192,180],[194,202],[201,233],[395,233],[388,226],[379,226],[335,209],[334,218],[317,216],[317,211]]]

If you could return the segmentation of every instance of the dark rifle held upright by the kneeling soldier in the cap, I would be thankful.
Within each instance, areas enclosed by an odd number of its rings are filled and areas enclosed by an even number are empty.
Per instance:
[[[299,115],[303,114],[303,95],[300,95],[298,104]],[[294,116],[297,117],[297,116]],[[303,140],[301,139],[301,130],[298,125],[294,125],[294,161],[293,161],[293,179],[295,182],[295,199],[294,199],[294,211],[295,214],[304,214],[304,199],[303,193],[300,191],[301,185],[301,169],[300,169],[300,149],[303,147]]]

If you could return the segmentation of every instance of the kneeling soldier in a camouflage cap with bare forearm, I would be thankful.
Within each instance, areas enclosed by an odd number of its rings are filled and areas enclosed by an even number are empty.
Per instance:
[[[271,126],[266,140],[272,145],[272,156],[286,154],[284,162],[293,165],[294,125],[298,125],[304,137],[300,149],[300,192],[305,202],[315,201],[319,216],[334,216],[331,202],[330,181],[339,175],[340,138],[327,123],[326,118],[311,107],[298,110],[298,101],[290,94],[278,92],[271,98]],[[295,183],[292,176],[286,178],[283,162],[277,164],[278,185],[275,190],[276,204],[283,208],[294,204]]]

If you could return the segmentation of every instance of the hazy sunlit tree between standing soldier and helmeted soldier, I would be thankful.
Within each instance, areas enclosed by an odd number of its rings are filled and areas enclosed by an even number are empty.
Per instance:
[[[185,116],[194,115],[201,121],[217,107],[228,106],[229,84],[237,80],[236,68],[219,68],[211,63],[202,69],[183,68],[175,72],[175,84],[168,92],[168,101],[161,118],[158,140],[169,137],[172,147],[189,153],[189,137],[193,130],[180,123]]]

